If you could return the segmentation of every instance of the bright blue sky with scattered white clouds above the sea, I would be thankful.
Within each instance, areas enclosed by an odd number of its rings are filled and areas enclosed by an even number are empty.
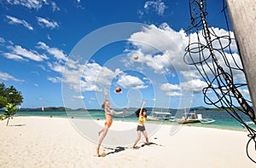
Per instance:
[[[223,4],[207,3],[210,26],[227,34]],[[103,90],[112,107],[207,106],[183,62],[187,0],[7,0],[0,14],[0,82],[21,91],[21,107],[100,108]]]

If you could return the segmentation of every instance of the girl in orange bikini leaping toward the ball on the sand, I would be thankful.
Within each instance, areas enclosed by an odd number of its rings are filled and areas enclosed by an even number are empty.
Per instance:
[[[100,152],[100,147],[102,145],[102,141],[103,141],[104,137],[107,135],[109,127],[113,123],[113,114],[119,115],[119,114],[122,114],[122,113],[126,113],[126,111],[117,113],[113,109],[111,109],[109,107],[110,103],[107,100],[107,96],[108,96],[108,91],[105,91],[104,92],[104,103],[102,105],[102,108],[104,109],[104,112],[105,112],[106,122],[105,122],[104,128],[101,131],[98,132],[99,136],[101,136],[101,134],[102,134],[102,136],[100,137],[98,147],[96,148],[97,156],[100,156],[99,152]]]

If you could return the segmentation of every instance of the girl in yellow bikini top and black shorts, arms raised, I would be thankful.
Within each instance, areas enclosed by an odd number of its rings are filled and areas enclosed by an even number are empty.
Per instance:
[[[147,109],[143,108],[145,104],[146,104],[146,101],[143,101],[142,108],[138,109],[135,112],[137,115],[137,118],[139,118],[139,119],[138,119],[138,125],[137,125],[137,140],[134,142],[134,145],[132,147],[133,149],[138,148],[136,145],[137,145],[137,142],[140,141],[140,139],[141,139],[142,132],[143,132],[143,136],[146,138],[147,144],[149,145],[148,135],[147,135],[147,131],[145,130],[145,125],[144,125],[144,122],[147,119],[147,115],[146,115]]]

